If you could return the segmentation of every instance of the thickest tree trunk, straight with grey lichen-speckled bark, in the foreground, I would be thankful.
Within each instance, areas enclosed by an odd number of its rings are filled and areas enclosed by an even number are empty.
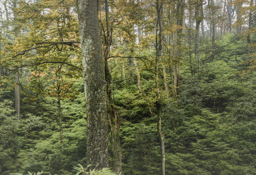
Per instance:
[[[108,167],[107,83],[96,0],[76,0],[87,111],[87,164]]]

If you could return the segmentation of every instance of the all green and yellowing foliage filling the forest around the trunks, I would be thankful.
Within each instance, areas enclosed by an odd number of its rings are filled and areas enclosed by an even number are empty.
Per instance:
[[[113,175],[109,169],[89,170],[89,166],[81,165],[86,165],[86,104],[80,77],[82,63],[75,1],[21,0],[17,9],[10,8],[14,1],[6,2],[10,26],[4,15],[0,24],[0,174],[21,175],[28,171],[38,172],[29,175],[47,174],[43,170],[52,175],[73,175],[73,167],[80,164],[75,167],[77,175]],[[237,35],[225,28],[226,34],[216,34],[213,47],[208,37],[210,30],[205,28],[204,34],[200,31],[200,57],[196,60],[195,30],[187,23],[195,20],[192,1],[185,6],[186,27],[181,34],[183,58],[179,60],[175,56],[180,49],[175,38],[181,26],[172,18],[178,12],[177,1],[163,2],[165,52],[159,65],[159,83],[166,175],[256,175],[255,29]],[[140,86],[156,113],[154,45],[159,40],[155,36],[155,3],[150,0],[108,0],[108,3],[112,30],[108,64],[113,80],[113,105],[121,121],[122,173],[157,175],[161,171],[157,116],[150,115],[145,97],[137,89],[133,65],[136,59]],[[100,1],[100,7],[103,5],[104,1]],[[219,5],[216,14],[220,13]],[[204,22],[210,24],[210,5],[204,7]],[[244,13],[249,12],[251,7],[244,7]],[[17,20],[11,14],[14,11]],[[105,13],[99,14],[104,29]],[[248,15],[245,14],[245,21]],[[19,35],[9,30],[16,27]],[[102,31],[103,37],[105,32]],[[64,44],[70,41],[73,43]],[[174,101],[173,66],[177,64],[180,64],[180,82]],[[20,66],[28,67],[20,69],[21,115],[15,115],[13,80],[15,69]],[[166,67],[169,94],[164,90],[162,66]],[[125,80],[122,74],[126,75]],[[63,148],[58,97],[63,114]],[[109,162],[111,156],[112,152]]]

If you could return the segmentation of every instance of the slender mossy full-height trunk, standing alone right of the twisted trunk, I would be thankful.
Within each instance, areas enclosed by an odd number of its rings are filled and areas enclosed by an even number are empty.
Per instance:
[[[163,27],[162,27],[162,14],[163,14],[163,2],[162,0],[156,1],[156,9],[157,9],[157,25],[159,26],[159,42],[156,41],[156,58],[155,58],[155,84],[157,91],[156,98],[156,111],[157,111],[157,132],[160,139],[160,149],[161,149],[161,172],[162,175],[165,175],[165,142],[164,135],[162,133],[161,128],[161,102],[160,102],[160,86],[159,86],[159,60],[163,51]],[[156,35],[157,35],[156,30]],[[156,37],[157,38],[157,37]]]

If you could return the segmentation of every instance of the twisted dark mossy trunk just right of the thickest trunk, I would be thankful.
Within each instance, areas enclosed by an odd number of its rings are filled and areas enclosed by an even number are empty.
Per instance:
[[[107,40],[105,41],[105,52],[104,52],[104,58],[105,58],[105,80],[107,81],[107,117],[110,125],[111,130],[111,146],[113,149],[113,171],[119,175],[122,171],[122,152],[121,152],[121,143],[120,143],[120,137],[119,137],[119,130],[120,130],[120,120],[117,113],[117,110],[115,108],[114,102],[112,100],[111,95],[111,81],[112,77],[109,72],[108,62],[107,58],[110,52],[110,46],[111,46],[111,31],[109,26],[109,16],[108,16],[108,1],[105,0],[105,10],[106,10],[106,26],[107,26]],[[124,74],[122,74],[124,75]],[[125,79],[125,78],[124,78]]]

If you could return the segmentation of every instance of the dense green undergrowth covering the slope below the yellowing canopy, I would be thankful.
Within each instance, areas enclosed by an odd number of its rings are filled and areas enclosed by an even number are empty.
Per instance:
[[[231,35],[225,36],[222,42],[229,38]],[[206,63],[201,75],[194,72],[192,76],[188,58],[184,57],[178,100],[165,96],[162,90],[167,175],[256,174],[256,72],[239,73],[245,69],[240,63],[247,58],[246,50],[223,52]],[[137,90],[136,75],[123,81],[117,62],[109,63],[113,67],[113,101],[121,118],[122,174],[157,175],[157,117],[150,116],[148,105]],[[127,75],[131,72],[126,71]],[[13,83],[6,82],[0,89],[0,174],[43,170],[52,175],[73,175],[74,166],[86,163],[83,81],[78,79],[72,86],[72,98],[62,99],[62,148],[57,98],[35,91],[28,75],[29,72],[21,75],[21,85],[31,88],[21,93],[19,116],[14,110]],[[150,71],[142,70],[141,80],[150,103],[154,104]],[[170,78],[170,84],[171,81]],[[44,88],[47,86],[50,85]],[[32,95],[37,98],[30,99]],[[155,110],[154,105],[152,108]],[[109,143],[110,167],[112,154]]]

